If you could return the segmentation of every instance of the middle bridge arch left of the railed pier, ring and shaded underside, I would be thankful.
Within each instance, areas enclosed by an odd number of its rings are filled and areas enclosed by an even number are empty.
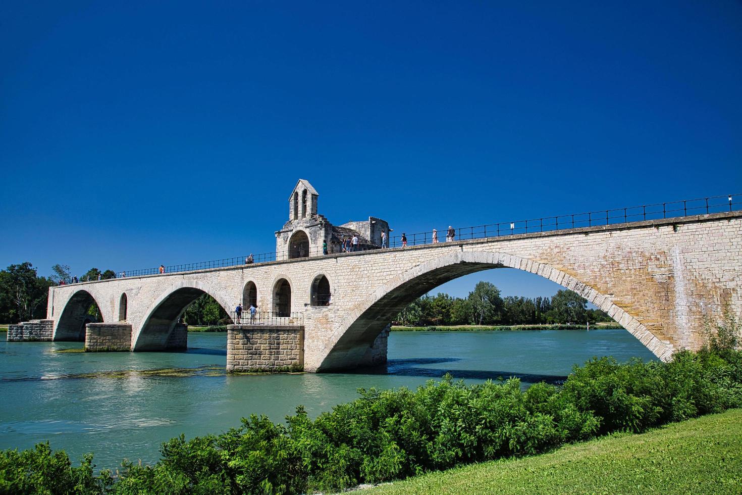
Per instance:
[[[209,284],[199,281],[174,283],[146,310],[142,324],[134,335],[134,350],[164,350],[185,308],[204,294],[214,298],[229,315],[227,298]]]

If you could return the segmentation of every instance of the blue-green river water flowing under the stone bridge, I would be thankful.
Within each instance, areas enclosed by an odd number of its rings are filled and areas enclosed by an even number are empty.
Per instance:
[[[389,364],[372,373],[228,376],[226,333],[188,335],[187,353],[61,353],[76,342],[0,344],[0,449],[49,440],[74,462],[156,462],[160,443],[220,433],[252,413],[280,422],[357,396],[358,387],[417,387],[450,372],[467,383],[519,376],[558,382],[594,355],[654,359],[626,330],[392,332]],[[156,371],[153,371],[156,370]]]

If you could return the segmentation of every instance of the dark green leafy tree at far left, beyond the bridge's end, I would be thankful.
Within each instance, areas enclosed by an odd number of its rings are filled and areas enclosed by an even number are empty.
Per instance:
[[[6,309],[5,321],[19,322],[42,316],[52,281],[36,275],[28,261],[0,271],[0,307]]]

